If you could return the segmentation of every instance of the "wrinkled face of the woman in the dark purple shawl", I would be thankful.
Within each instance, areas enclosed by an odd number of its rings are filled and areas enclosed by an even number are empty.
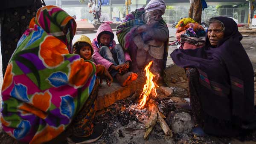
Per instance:
[[[208,27],[207,36],[212,46],[217,46],[218,42],[223,39],[224,31],[220,23],[211,23]]]

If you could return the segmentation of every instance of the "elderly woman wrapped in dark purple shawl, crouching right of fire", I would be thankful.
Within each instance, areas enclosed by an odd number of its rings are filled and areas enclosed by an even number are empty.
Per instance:
[[[238,136],[256,128],[253,67],[241,39],[232,19],[213,17],[204,47],[171,54],[178,66],[189,68],[192,111],[203,128],[193,130],[197,135]]]

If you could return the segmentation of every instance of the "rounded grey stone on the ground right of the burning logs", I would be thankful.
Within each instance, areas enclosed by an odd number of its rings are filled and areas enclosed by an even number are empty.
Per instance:
[[[191,116],[186,112],[176,113],[172,119],[172,130],[175,133],[190,132],[194,124]]]

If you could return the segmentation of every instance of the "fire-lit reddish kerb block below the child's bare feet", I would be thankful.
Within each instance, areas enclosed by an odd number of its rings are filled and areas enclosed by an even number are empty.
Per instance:
[[[127,98],[134,94],[137,89],[143,89],[144,84],[145,81],[143,77],[138,77],[136,81],[124,87],[120,86],[117,82],[113,82],[109,87],[103,82],[102,86],[99,88],[98,97],[96,99],[96,110],[102,110],[118,100]]]

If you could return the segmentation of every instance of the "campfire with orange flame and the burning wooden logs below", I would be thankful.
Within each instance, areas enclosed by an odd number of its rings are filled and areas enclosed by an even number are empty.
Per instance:
[[[153,130],[154,126],[159,123],[165,135],[170,135],[172,137],[172,131],[170,130],[168,124],[164,121],[165,116],[159,111],[157,104],[155,103],[153,98],[157,98],[156,88],[159,87],[155,82],[155,75],[150,72],[150,66],[153,61],[149,62],[145,67],[145,76],[146,76],[146,84],[143,87],[143,92],[140,94],[140,104],[139,108],[147,108],[150,113],[148,122],[146,123],[146,132],[144,135],[144,139],[148,139],[149,134]],[[153,98],[152,98],[153,97]]]

